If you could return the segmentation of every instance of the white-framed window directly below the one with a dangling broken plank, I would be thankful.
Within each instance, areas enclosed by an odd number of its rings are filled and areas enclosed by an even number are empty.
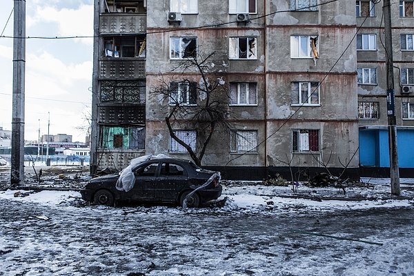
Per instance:
[[[294,81],[291,86],[292,105],[319,106],[319,82]]]

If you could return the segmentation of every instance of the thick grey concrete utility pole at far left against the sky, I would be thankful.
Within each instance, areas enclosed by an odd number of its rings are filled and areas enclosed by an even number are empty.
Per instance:
[[[14,0],[13,108],[10,183],[24,180],[24,80],[26,63],[26,1]]]

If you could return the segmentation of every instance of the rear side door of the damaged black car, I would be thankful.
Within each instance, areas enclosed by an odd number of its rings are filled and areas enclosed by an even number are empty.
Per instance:
[[[183,186],[188,185],[188,174],[183,166],[172,162],[163,162],[159,170],[159,179],[155,183],[155,199],[173,202]]]

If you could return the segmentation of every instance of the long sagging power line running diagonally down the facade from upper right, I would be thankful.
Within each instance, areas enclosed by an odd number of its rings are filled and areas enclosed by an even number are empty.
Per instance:
[[[373,5],[373,7],[371,8],[371,10],[372,10],[373,8],[375,8],[375,5],[376,5],[377,3],[380,3],[380,1],[381,1],[381,0],[373,1],[374,5]],[[357,28],[357,31],[355,32],[355,34],[354,34],[354,36],[352,37],[351,41],[349,41],[348,46],[346,46],[345,50],[344,50],[344,51],[342,52],[342,54],[339,56],[339,58],[337,59],[337,61],[335,61],[335,63],[334,63],[334,64],[333,64],[333,66],[331,67],[331,69],[330,69],[330,70],[326,73],[326,75],[322,78],[322,81],[319,81],[318,86],[315,88],[315,90],[313,90],[313,92],[311,93],[311,95],[309,95],[309,97],[306,99],[306,101],[307,101],[309,98],[311,98],[311,96],[313,95],[313,93],[315,93],[315,92],[316,92],[316,90],[318,90],[318,89],[319,89],[319,86],[321,86],[321,84],[325,81],[325,79],[328,77],[328,75],[330,75],[330,74],[331,74],[331,72],[332,72],[333,68],[335,68],[335,66],[337,65],[337,63],[339,62],[339,60],[341,60],[341,59],[342,59],[342,57],[344,57],[346,50],[348,50],[348,48],[351,46],[351,44],[352,44],[353,40],[354,40],[354,39],[355,39],[355,37],[357,36],[357,34],[358,34],[359,30],[362,28],[362,26],[364,26],[364,23],[365,23],[366,19],[368,19],[369,15],[370,15],[370,13],[371,13],[371,10],[370,10],[370,12],[368,12],[368,14],[366,14],[366,17],[365,17],[364,21],[362,21],[361,26],[359,26],[359,27]],[[299,110],[300,110],[300,109],[301,109],[304,105],[305,105],[305,103],[302,103],[302,104],[299,106],[299,108],[297,108],[297,110],[296,110],[295,112],[293,112],[293,114],[292,114],[292,115],[290,115],[290,116],[288,117],[288,119],[286,119],[286,121],[284,121],[284,122],[283,122],[283,124],[282,124],[281,126],[279,126],[279,128],[277,128],[277,130],[275,130],[272,134],[270,134],[268,137],[266,137],[266,139],[264,139],[262,142],[260,142],[259,144],[257,144],[257,146],[255,146],[254,148],[251,148],[250,150],[248,150],[248,151],[246,151],[246,152],[242,153],[241,155],[239,155],[239,156],[237,156],[237,157],[235,157],[235,158],[233,158],[233,159],[230,159],[230,160],[226,163],[226,166],[227,166],[227,165],[228,165],[231,161],[234,161],[235,159],[238,159],[238,158],[240,158],[240,157],[242,157],[242,156],[244,156],[244,155],[248,154],[249,152],[252,152],[253,150],[256,150],[257,148],[259,148],[259,146],[261,146],[262,144],[264,144],[264,142],[265,142],[265,141],[267,141],[268,139],[270,139],[270,137],[272,137],[273,135],[275,135],[275,134],[276,134],[277,132],[279,132],[279,130],[281,130],[281,129],[282,129],[282,128],[286,125],[286,124],[288,124],[288,121],[290,121],[290,119],[292,119],[292,118],[293,118],[293,116],[295,116],[295,115],[296,115],[296,113],[297,113],[297,112],[299,112]]]

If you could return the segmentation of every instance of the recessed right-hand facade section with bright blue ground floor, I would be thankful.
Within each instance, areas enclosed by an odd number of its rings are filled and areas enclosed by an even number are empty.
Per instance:
[[[404,6],[406,4],[406,6]],[[359,137],[360,165],[362,168],[389,167],[387,103],[386,103],[386,52],[384,49],[384,22],[382,22],[382,3],[375,6],[375,14],[370,17],[357,17],[357,26],[364,21],[359,33],[375,34],[376,48],[373,50],[357,50],[357,68],[376,70],[376,80],[371,83],[358,81],[357,94],[359,101]],[[412,103],[414,108],[414,80],[402,83],[402,71],[411,70],[414,75],[414,49],[411,42],[401,43],[401,35],[414,36],[414,14],[412,1],[391,0],[391,17],[393,32],[393,61],[395,83],[395,117],[397,119],[397,150],[400,168],[414,168],[414,150],[411,145],[414,137],[414,114],[403,114],[404,105]],[[407,42],[407,41],[406,41]],[[408,46],[409,45],[409,46]],[[360,70],[360,69],[359,69]],[[403,87],[411,87],[409,93]],[[366,103],[367,106],[362,106]],[[375,105],[372,114],[364,109]],[[362,110],[361,110],[362,109]],[[414,109],[413,109],[414,110]],[[414,112],[414,111],[413,111]]]

